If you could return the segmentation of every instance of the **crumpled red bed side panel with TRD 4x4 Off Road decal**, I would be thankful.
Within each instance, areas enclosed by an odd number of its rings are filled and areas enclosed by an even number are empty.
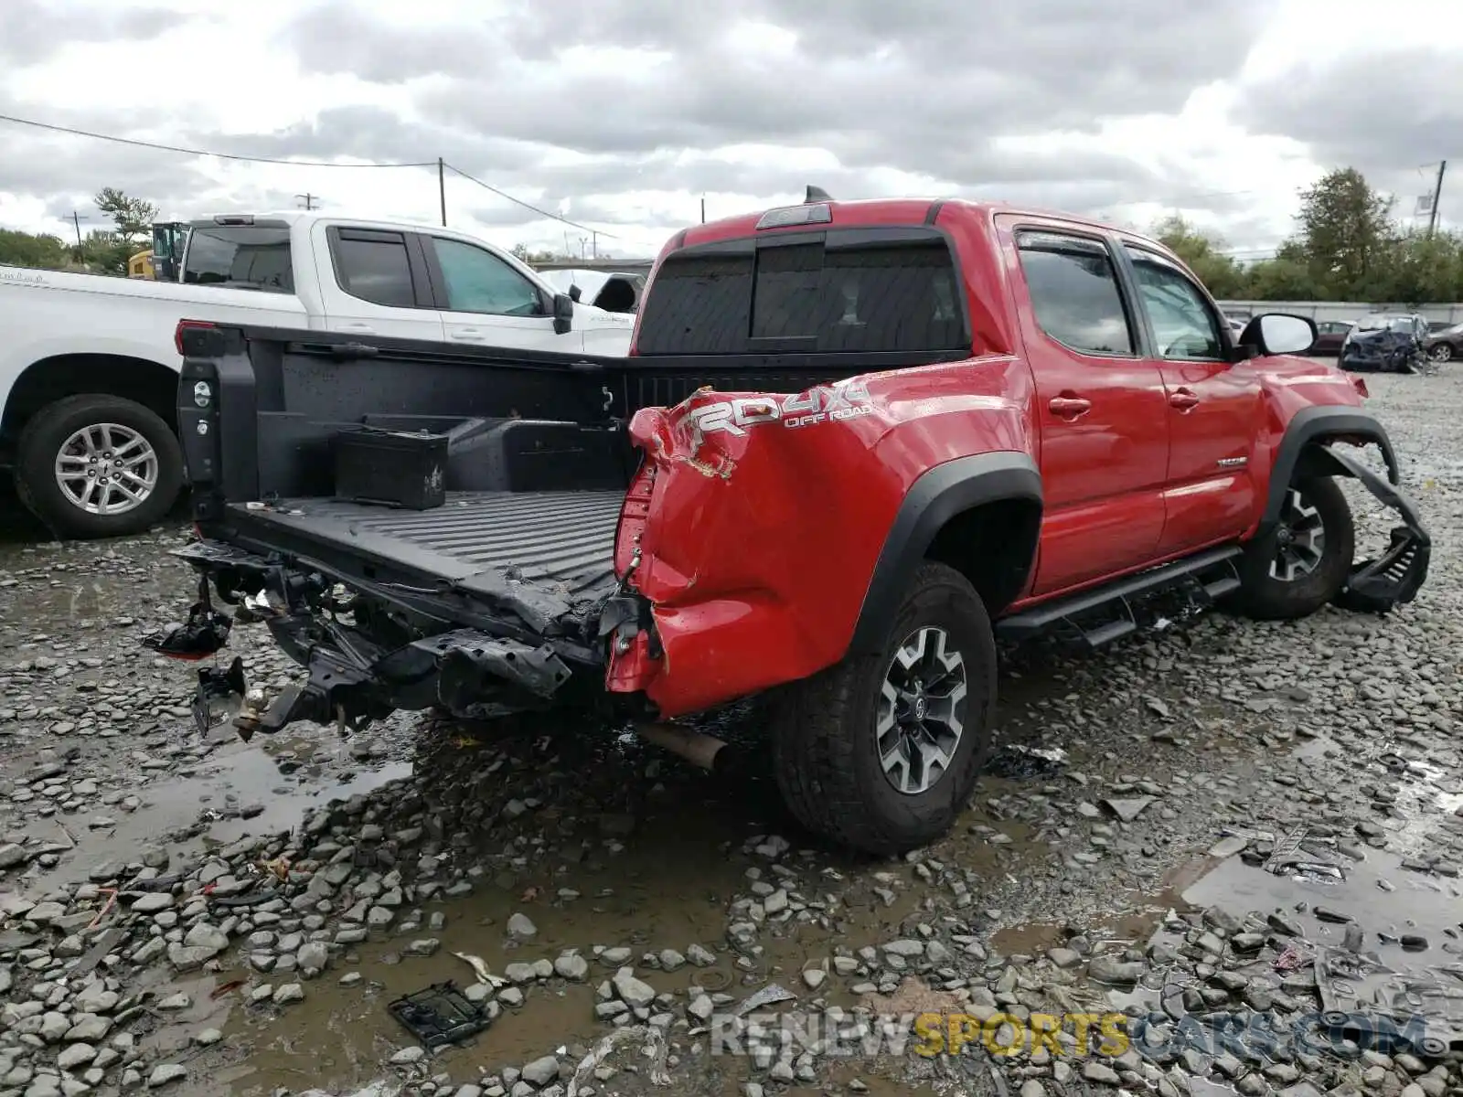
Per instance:
[[[664,651],[612,654],[607,687],[663,715],[837,663],[914,480],[970,453],[1033,452],[1011,357],[866,374],[796,395],[702,389],[631,436],[655,483],[631,585]],[[631,565],[626,525],[616,572]]]

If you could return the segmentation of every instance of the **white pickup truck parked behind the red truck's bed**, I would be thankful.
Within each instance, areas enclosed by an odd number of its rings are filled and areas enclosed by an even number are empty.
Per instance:
[[[0,266],[0,468],[56,534],[138,532],[177,499],[183,320],[597,355],[635,323],[462,233],[304,211],[190,222],[177,282]]]

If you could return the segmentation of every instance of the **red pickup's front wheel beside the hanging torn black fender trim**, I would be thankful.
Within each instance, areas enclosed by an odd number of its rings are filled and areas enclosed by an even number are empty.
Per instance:
[[[1306,617],[1346,585],[1356,532],[1346,496],[1330,477],[1286,489],[1280,522],[1251,541],[1239,565],[1235,607],[1257,620]]]

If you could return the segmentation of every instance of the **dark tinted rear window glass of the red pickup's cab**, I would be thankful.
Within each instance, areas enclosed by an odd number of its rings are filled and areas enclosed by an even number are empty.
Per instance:
[[[942,241],[669,257],[641,304],[641,354],[969,350]]]

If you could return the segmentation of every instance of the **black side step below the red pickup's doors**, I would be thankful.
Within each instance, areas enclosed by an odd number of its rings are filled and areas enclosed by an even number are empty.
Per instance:
[[[1005,641],[1023,641],[1067,625],[1081,633],[1088,646],[1097,648],[1121,636],[1138,630],[1138,622],[1128,604],[1132,598],[1154,594],[1184,582],[1194,582],[1206,601],[1214,601],[1239,588],[1235,560],[1242,554],[1238,544],[1208,548],[1197,556],[1150,568],[1146,572],[1116,579],[1105,587],[1067,598],[1043,603],[1024,613],[1015,613],[996,622],[996,636]],[[1222,572],[1204,576],[1204,572]],[[1201,578],[1204,576],[1204,578]],[[1100,625],[1081,625],[1084,617],[1096,610],[1112,608],[1118,616]]]

